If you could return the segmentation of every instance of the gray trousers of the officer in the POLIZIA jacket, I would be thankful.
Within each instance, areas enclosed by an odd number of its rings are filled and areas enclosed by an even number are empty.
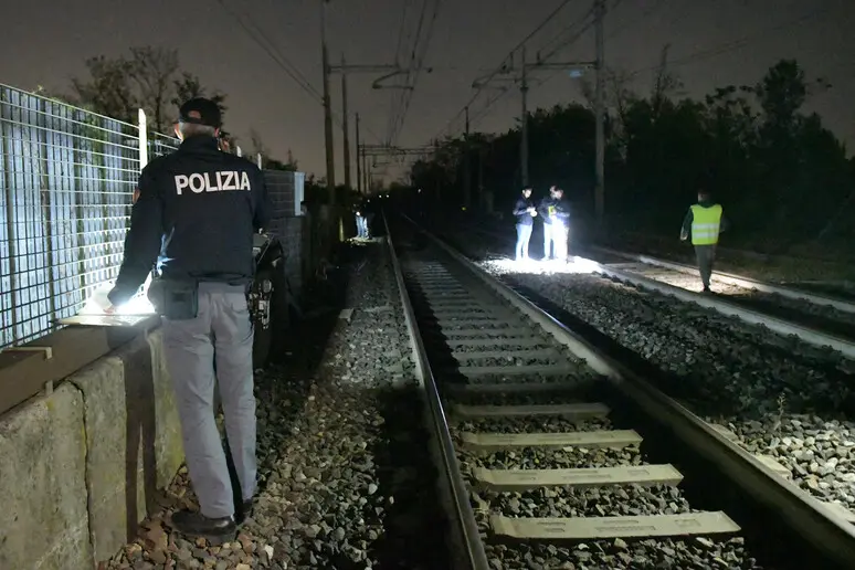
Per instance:
[[[232,484],[214,420],[215,383],[243,499],[255,494],[252,342],[246,294],[240,286],[201,283],[196,318],[163,319],[163,350],[181,418],[187,469],[200,510],[211,518],[234,515]]]

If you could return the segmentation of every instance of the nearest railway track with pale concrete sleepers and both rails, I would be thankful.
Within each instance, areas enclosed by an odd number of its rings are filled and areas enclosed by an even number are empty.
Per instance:
[[[763,457],[441,242],[395,230],[463,566],[855,567],[847,522]]]

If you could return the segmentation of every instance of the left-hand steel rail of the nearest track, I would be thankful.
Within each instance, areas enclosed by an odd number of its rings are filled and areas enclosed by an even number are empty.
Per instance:
[[[463,543],[460,546],[464,550],[462,555],[466,558],[467,567],[476,570],[489,570],[489,562],[487,561],[487,555],[484,551],[484,543],[481,539],[475,513],[469,504],[469,492],[466,488],[466,484],[464,483],[463,475],[460,471],[456,452],[454,451],[454,443],[452,442],[451,432],[448,430],[448,420],[445,410],[443,409],[442,400],[440,399],[436,380],[434,379],[431,366],[428,362],[428,353],[424,349],[422,336],[415,324],[415,313],[410,300],[410,294],[407,292],[403,272],[401,271],[398,254],[394,251],[392,234],[389,230],[389,221],[387,220],[386,214],[383,214],[383,225],[386,226],[387,244],[389,246],[389,255],[392,262],[395,282],[398,284],[398,292],[401,297],[401,306],[404,310],[407,329],[410,332],[415,370],[428,400],[430,421],[433,424],[433,431],[437,439],[436,444],[439,447],[440,460],[442,461],[447,478],[447,490],[451,494],[451,506],[454,509],[454,520],[451,522],[455,524],[460,531],[460,537],[463,540]]]

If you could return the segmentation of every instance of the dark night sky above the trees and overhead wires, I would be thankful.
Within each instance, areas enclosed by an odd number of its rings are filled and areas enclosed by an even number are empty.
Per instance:
[[[228,0],[226,0],[228,1]],[[423,1],[332,0],[329,4],[330,55],[338,63],[391,63],[398,45],[403,4],[409,3],[409,43]],[[425,65],[398,144],[422,146],[432,137],[463,128],[472,81],[500,63],[559,0],[443,0],[433,25]],[[609,7],[615,0],[609,1]],[[117,55],[131,45],[162,45],[180,52],[182,67],[228,93],[226,129],[249,141],[251,127],[274,157],[293,149],[300,170],[324,173],[323,109],[260,48],[215,0],[77,0],[0,3],[4,55],[0,83],[32,89],[67,91],[72,75],[84,73],[91,55]],[[62,4],[62,8],[60,6]],[[320,92],[319,0],[228,1],[249,25],[262,30],[274,49],[296,65]],[[73,7],[73,8],[72,8]],[[552,45],[562,31],[590,10],[590,0],[570,2],[528,43],[534,52]],[[430,10],[428,12],[430,14]],[[809,77],[822,76],[832,88],[812,97],[810,107],[825,125],[855,146],[855,24],[853,0],[623,0],[608,14],[605,56],[610,66],[640,70],[634,86],[650,88],[652,68],[664,44],[687,95],[726,84],[753,84],[781,57],[795,57]],[[572,28],[576,30],[577,28]],[[567,32],[564,33],[567,36]],[[408,34],[404,35],[408,39]],[[558,60],[592,60],[593,31],[562,50]],[[405,52],[409,54],[409,49]],[[703,57],[698,54],[706,54]],[[530,108],[580,99],[578,81],[562,73],[530,92]],[[395,91],[372,91],[378,75],[351,75],[350,112],[363,118],[367,142],[384,138]],[[340,78],[332,77],[332,104],[340,113]],[[481,114],[485,92],[472,108]],[[473,129],[505,130],[519,113],[518,92],[505,96]],[[447,127],[446,127],[447,126]],[[366,133],[369,130],[370,133]],[[373,135],[372,135],[373,134]],[[353,130],[351,126],[351,139]],[[336,129],[337,181],[341,181],[341,131]]]

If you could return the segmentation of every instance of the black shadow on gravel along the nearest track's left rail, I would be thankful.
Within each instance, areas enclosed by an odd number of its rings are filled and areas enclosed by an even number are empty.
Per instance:
[[[371,546],[379,569],[444,570],[451,568],[445,542],[447,525],[430,453],[430,435],[422,424],[416,387],[378,393],[383,416],[380,442],[372,454],[380,488],[394,498],[386,505],[383,534]],[[360,568],[361,570],[361,568]]]

